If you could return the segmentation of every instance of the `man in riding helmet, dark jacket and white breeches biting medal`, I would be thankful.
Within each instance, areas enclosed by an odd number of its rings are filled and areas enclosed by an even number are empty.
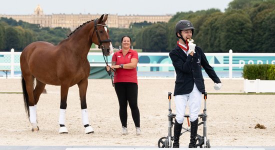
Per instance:
[[[202,49],[193,43],[191,39],[193,31],[194,27],[190,21],[178,21],[175,25],[175,34],[179,39],[176,47],[169,53],[176,72],[174,87],[176,119],[173,148],[179,147],[179,136],[187,102],[191,122],[188,147],[195,147],[201,94],[205,93],[201,68],[203,67],[208,76],[214,81],[214,89],[218,90],[222,86],[220,79],[209,65]]]

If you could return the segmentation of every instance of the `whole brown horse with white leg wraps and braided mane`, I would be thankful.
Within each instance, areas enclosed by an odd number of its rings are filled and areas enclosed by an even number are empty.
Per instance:
[[[89,125],[86,90],[90,71],[87,54],[92,43],[102,49],[103,55],[113,51],[105,21],[107,14],[99,19],[90,20],[77,27],[58,45],[44,41],[35,41],[27,45],[20,55],[22,89],[26,113],[32,125],[32,131],[38,131],[36,104],[46,84],[60,85],[59,133],[67,133],[65,110],[67,107],[68,88],[77,84],[81,103],[84,133],[92,133]],[[36,86],[33,89],[33,81]]]

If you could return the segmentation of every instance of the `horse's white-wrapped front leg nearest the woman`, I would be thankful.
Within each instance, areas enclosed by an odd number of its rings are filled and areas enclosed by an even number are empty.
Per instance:
[[[87,104],[86,104],[86,91],[88,86],[88,79],[83,79],[79,83],[77,83],[79,88],[79,96],[80,96],[80,104],[81,104],[81,115],[82,115],[82,123],[85,127],[86,134],[93,133],[93,128],[89,124],[88,112],[87,112]]]

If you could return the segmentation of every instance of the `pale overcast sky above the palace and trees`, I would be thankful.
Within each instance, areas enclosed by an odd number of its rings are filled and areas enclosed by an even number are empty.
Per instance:
[[[44,14],[165,15],[218,8],[233,0],[0,0],[0,14],[33,14],[39,4]]]

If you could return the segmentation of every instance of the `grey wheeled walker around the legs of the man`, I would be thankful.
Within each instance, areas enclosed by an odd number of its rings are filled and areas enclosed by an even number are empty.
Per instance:
[[[173,140],[173,136],[172,136],[172,126],[174,124],[174,119],[176,114],[172,113],[172,109],[171,109],[171,92],[168,92],[168,100],[169,100],[169,107],[168,107],[168,135],[165,137],[161,137],[159,138],[157,145],[159,148],[171,148],[172,147],[172,140]],[[209,143],[209,139],[207,139],[206,137],[206,99],[207,99],[207,93],[205,92],[203,95],[204,98],[204,109],[203,109],[203,113],[198,114],[198,117],[201,118],[201,122],[198,123],[198,126],[203,124],[203,135],[196,135],[196,147],[200,147],[200,148],[210,148],[210,143]],[[188,123],[188,127],[190,126],[189,124],[189,114],[185,114],[184,117],[187,118],[187,123]],[[183,130],[180,135],[182,135],[185,132],[190,132],[190,128],[188,127],[182,127],[181,130]]]

